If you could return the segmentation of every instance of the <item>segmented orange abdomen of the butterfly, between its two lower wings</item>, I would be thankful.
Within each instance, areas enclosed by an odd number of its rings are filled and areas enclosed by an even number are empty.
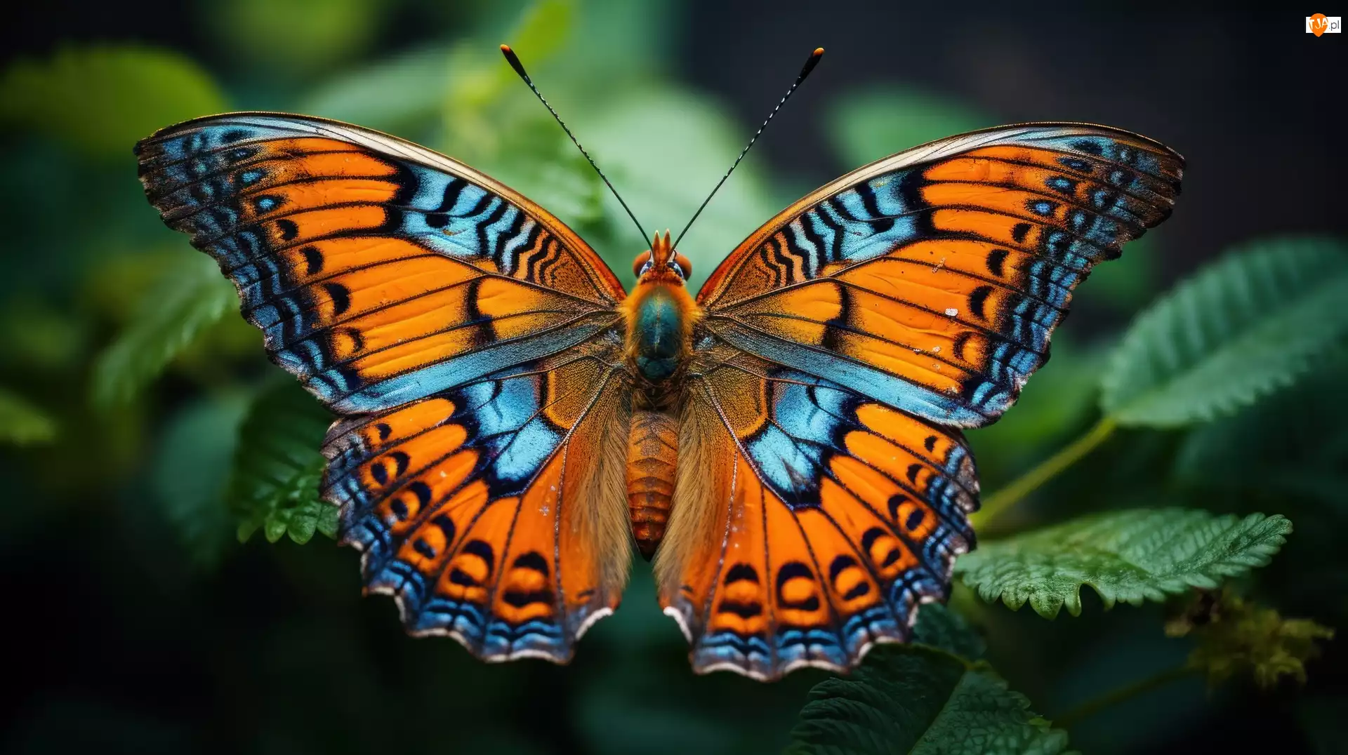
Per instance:
[[[662,411],[634,411],[627,441],[627,510],[636,547],[647,561],[665,537],[678,461],[678,421]]]

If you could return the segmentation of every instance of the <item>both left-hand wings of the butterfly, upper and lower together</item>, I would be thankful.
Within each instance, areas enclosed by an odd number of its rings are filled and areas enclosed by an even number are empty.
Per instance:
[[[613,274],[491,178],[359,127],[231,113],[136,147],[164,222],[342,418],[324,497],[371,592],[474,655],[568,661],[628,568]]]

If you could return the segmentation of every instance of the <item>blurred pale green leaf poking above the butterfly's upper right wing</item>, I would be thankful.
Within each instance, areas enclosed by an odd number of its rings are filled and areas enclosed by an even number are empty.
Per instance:
[[[851,167],[909,147],[996,125],[996,120],[949,97],[914,86],[883,85],[845,92],[826,111],[825,133]]]

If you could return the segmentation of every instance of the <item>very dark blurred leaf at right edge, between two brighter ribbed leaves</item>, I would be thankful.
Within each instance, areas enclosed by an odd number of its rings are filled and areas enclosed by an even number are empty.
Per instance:
[[[1196,426],[1175,454],[1175,476],[1229,491],[1289,493],[1348,512],[1348,352],[1294,388],[1233,417]]]

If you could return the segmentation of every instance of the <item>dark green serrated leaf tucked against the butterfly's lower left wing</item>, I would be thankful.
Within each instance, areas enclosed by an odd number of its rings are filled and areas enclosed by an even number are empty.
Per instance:
[[[240,542],[259,528],[268,542],[290,535],[303,545],[315,531],[337,537],[337,507],[318,497],[328,462],[318,449],[330,422],[293,380],[257,394],[239,429],[228,493]]]

